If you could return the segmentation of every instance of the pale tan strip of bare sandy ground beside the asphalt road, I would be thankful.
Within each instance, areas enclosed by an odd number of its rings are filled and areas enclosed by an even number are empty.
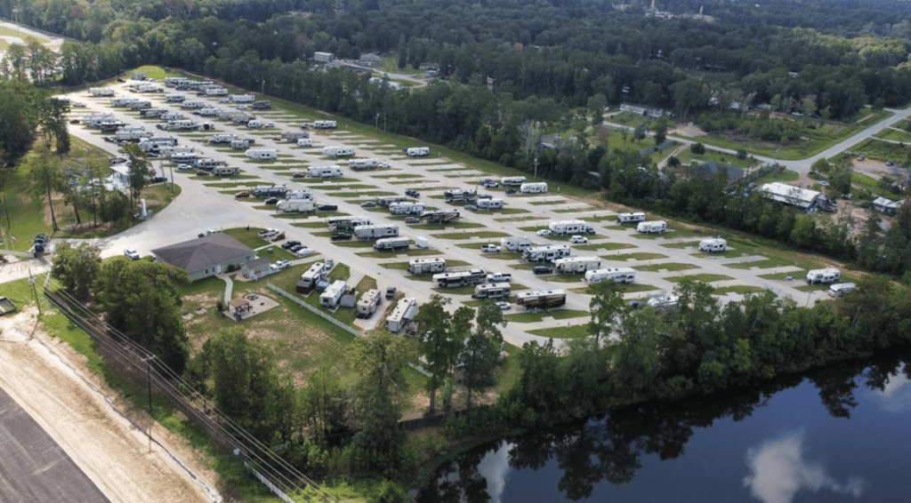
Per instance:
[[[85,357],[36,327],[36,308],[0,318],[0,387],[35,418],[113,502],[221,501],[216,475],[182,438],[159,424],[152,438],[130,410],[92,376]],[[33,336],[34,331],[34,336]]]

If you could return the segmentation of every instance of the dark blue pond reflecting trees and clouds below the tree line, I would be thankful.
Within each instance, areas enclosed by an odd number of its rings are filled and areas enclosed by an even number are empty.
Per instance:
[[[446,463],[413,496],[421,503],[908,501],[906,373],[911,357],[894,355],[490,442]]]

